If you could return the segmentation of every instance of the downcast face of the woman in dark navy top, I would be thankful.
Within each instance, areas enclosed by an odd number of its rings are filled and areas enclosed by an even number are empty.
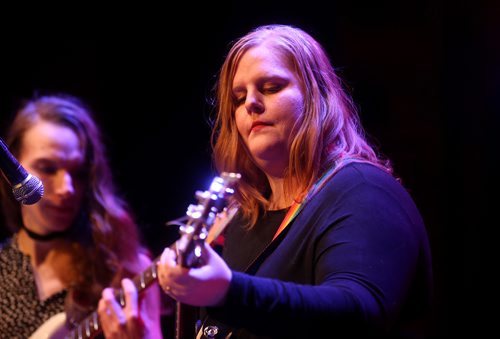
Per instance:
[[[266,174],[282,177],[292,130],[304,107],[297,76],[273,49],[249,49],[233,79],[236,126],[253,161]]]

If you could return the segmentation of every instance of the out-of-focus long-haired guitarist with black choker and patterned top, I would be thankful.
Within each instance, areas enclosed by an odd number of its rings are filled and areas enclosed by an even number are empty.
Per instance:
[[[0,337],[50,333],[49,318],[63,311],[72,326],[98,311],[106,338],[161,338],[158,285],[138,295],[130,279],[151,264],[150,254],[113,186],[88,107],[68,95],[34,98],[16,113],[5,141],[41,179],[44,195],[20,204],[0,180],[12,232],[0,246]],[[125,308],[106,287],[123,288]]]

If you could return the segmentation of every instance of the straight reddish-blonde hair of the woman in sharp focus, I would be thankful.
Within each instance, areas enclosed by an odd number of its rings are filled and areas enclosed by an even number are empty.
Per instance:
[[[257,27],[233,43],[220,69],[211,139],[216,169],[242,175],[234,199],[250,224],[265,210],[270,187],[238,133],[232,83],[242,56],[264,43],[293,65],[304,96],[302,116],[292,131],[289,164],[284,173],[285,193],[300,200],[327,169],[351,161],[371,163],[392,173],[389,160],[379,156],[368,143],[357,107],[323,47],[297,27]]]

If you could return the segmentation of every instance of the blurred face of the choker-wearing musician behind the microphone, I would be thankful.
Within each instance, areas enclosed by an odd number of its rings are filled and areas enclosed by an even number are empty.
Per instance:
[[[44,186],[42,199],[21,207],[26,227],[47,234],[71,226],[85,191],[84,161],[80,141],[70,128],[41,121],[26,131],[19,162]]]

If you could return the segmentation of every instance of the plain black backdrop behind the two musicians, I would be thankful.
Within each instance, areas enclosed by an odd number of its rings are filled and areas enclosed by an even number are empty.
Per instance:
[[[0,131],[22,99],[67,92],[105,132],[118,186],[159,254],[214,175],[209,98],[229,43],[266,23],[302,27],[326,48],[426,221],[432,338],[495,325],[500,68],[498,5],[476,1],[303,1],[2,11]],[[20,15],[22,13],[22,16]],[[10,20],[9,20],[10,19]],[[332,329],[335,333],[335,329]]]

